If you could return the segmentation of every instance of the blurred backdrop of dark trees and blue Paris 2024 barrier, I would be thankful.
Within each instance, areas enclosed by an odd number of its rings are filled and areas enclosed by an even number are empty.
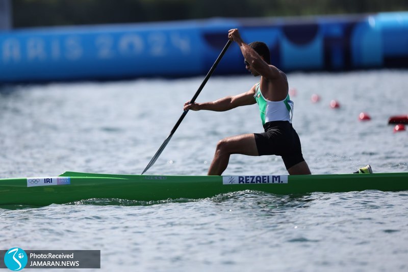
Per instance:
[[[240,29],[292,71],[408,68],[408,2],[0,0],[0,84],[205,75]],[[215,75],[245,73],[238,46]]]

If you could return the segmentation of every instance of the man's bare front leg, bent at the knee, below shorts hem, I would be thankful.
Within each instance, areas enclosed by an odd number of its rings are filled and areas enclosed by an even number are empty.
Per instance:
[[[220,176],[226,169],[231,154],[258,156],[255,136],[253,134],[243,134],[220,140],[207,175]]]

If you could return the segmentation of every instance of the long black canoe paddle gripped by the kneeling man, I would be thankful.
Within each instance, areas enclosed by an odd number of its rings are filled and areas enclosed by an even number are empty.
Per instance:
[[[201,90],[204,88],[204,86],[206,85],[207,81],[210,79],[211,75],[213,74],[215,68],[217,67],[218,63],[220,62],[220,60],[222,59],[222,57],[224,56],[226,50],[228,49],[228,46],[230,46],[231,41],[228,40],[227,43],[225,44],[224,48],[222,48],[222,51],[220,53],[220,55],[218,56],[218,58],[215,60],[213,66],[211,66],[211,69],[208,71],[206,78],[203,80],[203,82],[201,83],[200,87],[198,88],[198,90],[195,92],[193,98],[191,98],[190,100],[190,104],[193,104],[195,102],[195,100],[197,99],[198,95],[200,94]],[[177,130],[177,128],[179,128],[181,122],[183,121],[184,117],[186,117],[187,112],[189,110],[184,110],[182,115],[180,116],[179,120],[177,120],[177,122],[175,123],[173,129],[170,132],[170,135],[166,138],[166,140],[164,140],[164,142],[162,143],[162,145],[160,146],[159,150],[156,152],[155,156],[153,156],[153,158],[151,158],[150,162],[147,164],[146,168],[144,168],[142,175],[144,174],[145,171],[147,171],[155,162],[156,160],[159,158],[160,154],[163,152],[164,147],[166,147],[167,143],[170,141],[171,137],[173,136],[174,132]]]

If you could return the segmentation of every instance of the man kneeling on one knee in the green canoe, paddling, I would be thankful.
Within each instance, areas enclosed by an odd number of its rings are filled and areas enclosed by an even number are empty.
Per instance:
[[[270,64],[268,46],[263,42],[246,44],[238,29],[228,32],[228,39],[235,41],[244,56],[246,69],[253,76],[261,76],[260,83],[244,93],[227,96],[207,103],[184,104],[187,110],[226,111],[239,106],[258,103],[264,133],[227,137],[217,144],[208,175],[221,175],[231,154],[249,156],[281,156],[290,175],[311,174],[304,161],[300,140],[292,127],[293,102],[289,100],[288,80],[283,71]]]

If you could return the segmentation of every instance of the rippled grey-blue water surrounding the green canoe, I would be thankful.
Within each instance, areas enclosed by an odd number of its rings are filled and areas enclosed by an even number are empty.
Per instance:
[[[294,127],[313,174],[368,163],[375,172],[408,171],[408,132],[393,133],[387,124],[408,113],[407,70],[288,78],[297,90]],[[3,87],[0,178],[67,170],[140,174],[202,80]],[[256,80],[213,77],[197,101],[246,91]],[[321,97],[315,104],[314,93]],[[331,109],[331,100],[341,107]],[[370,121],[358,120],[363,111]],[[219,139],[261,131],[256,105],[189,112],[148,173],[205,175]],[[286,170],[279,157],[236,155],[224,174]],[[407,216],[407,192],[241,192],[152,205],[88,200],[0,209],[0,243],[2,249],[101,250],[103,271],[406,271]]]

